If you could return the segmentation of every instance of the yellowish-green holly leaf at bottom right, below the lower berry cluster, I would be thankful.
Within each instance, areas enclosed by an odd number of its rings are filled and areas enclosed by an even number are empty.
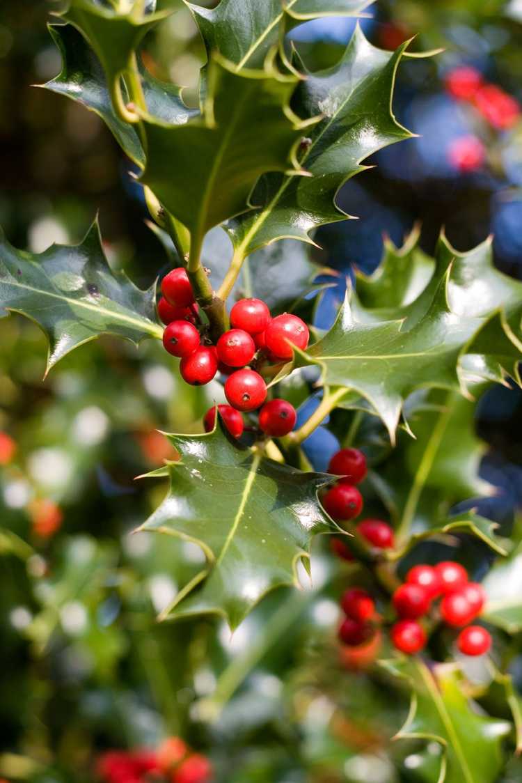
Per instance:
[[[384,662],[412,687],[409,716],[397,739],[425,739],[441,747],[433,783],[493,783],[502,769],[502,738],[511,724],[477,713],[463,694],[455,666],[429,669],[420,659]],[[427,760],[426,760],[427,761]]]

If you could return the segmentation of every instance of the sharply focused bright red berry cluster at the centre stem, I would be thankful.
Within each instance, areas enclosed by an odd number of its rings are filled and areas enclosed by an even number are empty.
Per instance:
[[[158,312],[166,324],[163,344],[171,355],[181,359],[179,370],[184,381],[201,386],[212,381],[218,372],[227,376],[225,396],[229,405],[218,408],[231,435],[239,438],[243,433],[241,413],[261,406],[261,431],[275,438],[288,435],[295,426],[296,412],[283,399],[265,403],[267,385],[262,369],[267,363],[291,359],[294,346],[307,347],[310,334],[304,321],[287,312],[272,318],[261,299],[241,299],[230,312],[232,328],[212,345],[185,269],[169,272],[161,283],[161,291]],[[215,408],[207,412],[207,431],[214,428],[215,415]]]

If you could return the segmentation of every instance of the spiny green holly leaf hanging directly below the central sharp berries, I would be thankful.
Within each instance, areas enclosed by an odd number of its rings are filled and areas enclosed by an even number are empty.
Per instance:
[[[338,529],[319,504],[324,474],[303,473],[231,442],[221,422],[208,435],[167,435],[182,461],[156,475],[170,489],[140,530],[197,543],[207,565],[165,615],[222,615],[236,628],[277,586],[298,586],[311,537]]]

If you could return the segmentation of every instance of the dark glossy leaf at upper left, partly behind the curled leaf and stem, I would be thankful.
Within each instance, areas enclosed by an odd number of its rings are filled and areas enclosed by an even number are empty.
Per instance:
[[[94,111],[106,122],[124,153],[135,163],[145,164],[145,153],[133,125],[121,121],[113,110],[103,67],[85,38],[72,24],[49,26],[62,56],[61,73],[43,85]],[[184,124],[197,112],[183,103],[181,90],[153,78],[142,69],[142,88],[149,113],[171,124]]]

